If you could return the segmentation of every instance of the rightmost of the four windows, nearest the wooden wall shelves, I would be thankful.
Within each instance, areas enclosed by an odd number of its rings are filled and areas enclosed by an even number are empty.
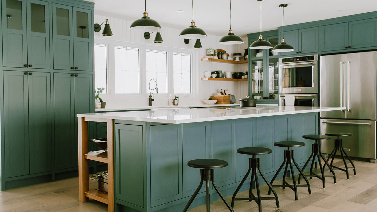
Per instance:
[[[173,84],[175,94],[191,93],[191,55],[173,53]]]

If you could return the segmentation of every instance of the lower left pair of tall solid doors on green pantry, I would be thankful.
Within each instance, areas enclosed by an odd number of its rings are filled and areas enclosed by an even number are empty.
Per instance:
[[[52,170],[50,73],[3,71],[5,177]]]

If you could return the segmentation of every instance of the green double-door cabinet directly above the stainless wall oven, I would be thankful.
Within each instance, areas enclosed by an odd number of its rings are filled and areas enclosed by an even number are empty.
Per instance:
[[[283,32],[280,32],[280,40]],[[284,40],[294,51],[281,52],[281,56],[294,54],[314,54],[319,52],[319,27],[304,28],[284,32]]]

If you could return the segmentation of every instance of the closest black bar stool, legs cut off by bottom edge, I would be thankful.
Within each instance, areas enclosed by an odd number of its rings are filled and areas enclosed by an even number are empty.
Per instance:
[[[214,171],[213,169],[222,168],[228,166],[227,161],[225,160],[218,160],[218,159],[196,159],[190,160],[187,162],[187,166],[198,168],[200,169],[200,183],[198,188],[195,190],[194,194],[190,198],[189,202],[186,204],[183,212],[186,212],[189,209],[190,204],[194,201],[196,195],[199,193],[199,190],[202,188],[203,181],[205,181],[205,203],[207,205],[207,212],[210,212],[210,181],[212,181],[212,185],[215,188],[216,192],[219,194],[222,201],[224,201],[225,205],[227,205],[228,209],[231,212],[234,212],[233,208],[230,207],[225,197],[221,194],[220,190],[215,184],[214,178]]]

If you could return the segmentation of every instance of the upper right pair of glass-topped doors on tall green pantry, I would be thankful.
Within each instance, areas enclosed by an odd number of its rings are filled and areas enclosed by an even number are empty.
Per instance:
[[[93,71],[92,11],[52,4],[54,69]]]

